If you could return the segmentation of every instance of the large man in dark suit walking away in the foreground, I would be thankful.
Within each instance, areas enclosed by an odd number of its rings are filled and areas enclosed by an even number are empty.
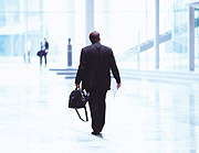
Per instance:
[[[111,89],[111,70],[121,87],[121,76],[111,47],[100,43],[100,33],[90,34],[91,45],[81,51],[80,65],[75,78],[75,86],[90,92],[90,110],[92,117],[92,134],[101,134],[105,124],[105,98]]]

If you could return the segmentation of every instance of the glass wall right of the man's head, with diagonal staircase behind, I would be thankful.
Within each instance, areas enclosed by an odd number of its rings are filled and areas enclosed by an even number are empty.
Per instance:
[[[159,1],[159,66],[163,70],[188,70],[188,3],[191,0]],[[155,34],[155,1],[109,0],[95,2],[95,28],[105,44],[114,48],[121,67],[155,69],[155,50],[148,47]],[[138,47],[140,46],[140,47]]]

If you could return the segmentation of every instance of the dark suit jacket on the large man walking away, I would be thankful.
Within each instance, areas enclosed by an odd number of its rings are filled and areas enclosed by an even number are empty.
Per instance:
[[[83,89],[109,89],[111,70],[117,84],[121,83],[119,72],[112,48],[94,43],[82,48],[80,66],[75,84],[82,81]]]

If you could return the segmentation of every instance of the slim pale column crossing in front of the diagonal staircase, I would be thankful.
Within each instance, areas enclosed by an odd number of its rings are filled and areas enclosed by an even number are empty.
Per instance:
[[[159,0],[155,0],[155,68],[159,69]]]

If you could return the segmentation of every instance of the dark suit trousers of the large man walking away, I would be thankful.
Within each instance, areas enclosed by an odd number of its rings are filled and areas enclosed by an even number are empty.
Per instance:
[[[92,129],[95,132],[101,132],[105,124],[106,92],[106,89],[93,89],[90,91],[88,105],[92,117]]]

